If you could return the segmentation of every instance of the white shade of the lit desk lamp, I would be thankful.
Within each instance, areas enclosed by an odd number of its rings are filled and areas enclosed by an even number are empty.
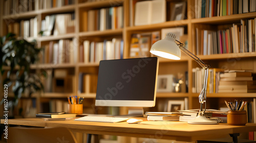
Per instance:
[[[163,40],[152,45],[150,53],[166,59],[180,60],[180,48],[174,41],[175,37],[175,34],[167,33]]]

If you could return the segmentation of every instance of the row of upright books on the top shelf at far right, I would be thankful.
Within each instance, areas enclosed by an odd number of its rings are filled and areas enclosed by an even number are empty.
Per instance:
[[[256,11],[255,0],[200,0],[195,1],[195,17],[213,17]]]

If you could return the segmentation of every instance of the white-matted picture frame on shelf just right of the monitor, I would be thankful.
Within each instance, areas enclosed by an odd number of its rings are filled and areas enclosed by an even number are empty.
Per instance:
[[[158,75],[157,92],[173,92],[174,75]]]

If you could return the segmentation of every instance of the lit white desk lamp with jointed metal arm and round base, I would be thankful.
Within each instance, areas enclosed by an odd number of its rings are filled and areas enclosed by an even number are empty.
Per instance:
[[[199,103],[200,103],[200,111],[198,116],[193,119],[187,121],[188,124],[217,124],[217,121],[211,121],[205,117],[204,112],[206,110],[203,109],[203,104],[206,104],[206,85],[208,78],[208,68],[209,64],[205,64],[200,58],[195,56],[193,53],[189,52],[183,47],[183,44],[179,41],[179,44],[175,42],[176,35],[174,33],[167,33],[166,37],[163,40],[159,40],[155,42],[150,52],[156,56],[160,56],[167,59],[180,60],[181,54],[180,50],[184,52],[186,55],[194,59],[197,63],[199,63],[205,69],[205,77],[204,77],[204,85],[201,93],[199,94]]]

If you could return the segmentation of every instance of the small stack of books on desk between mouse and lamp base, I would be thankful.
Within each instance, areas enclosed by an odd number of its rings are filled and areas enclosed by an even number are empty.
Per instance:
[[[146,112],[148,121],[179,121],[179,112]]]

